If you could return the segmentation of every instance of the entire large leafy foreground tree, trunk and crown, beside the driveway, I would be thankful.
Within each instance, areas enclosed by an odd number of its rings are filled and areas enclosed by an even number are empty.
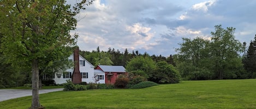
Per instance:
[[[84,5],[75,4],[73,9],[64,0],[57,1],[0,1],[1,51],[12,64],[26,63],[32,69],[32,106],[41,108],[39,102],[39,67],[45,60],[59,60],[65,55],[65,47],[74,45],[78,35],[74,30]]]

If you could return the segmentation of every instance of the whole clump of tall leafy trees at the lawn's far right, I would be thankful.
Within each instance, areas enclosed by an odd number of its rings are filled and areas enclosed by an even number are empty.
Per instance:
[[[177,68],[189,80],[234,79],[243,73],[240,53],[244,48],[235,39],[235,28],[216,25],[211,40],[183,38],[177,49]]]

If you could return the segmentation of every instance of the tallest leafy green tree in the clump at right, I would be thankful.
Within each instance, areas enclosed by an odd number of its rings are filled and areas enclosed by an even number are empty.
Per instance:
[[[212,70],[218,79],[235,78],[237,68],[242,66],[239,54],[243,47],[242,43],[235,39],[234,33],[235,28],[223,29],[222,25],[216,25],[215,32],[211,32]]]

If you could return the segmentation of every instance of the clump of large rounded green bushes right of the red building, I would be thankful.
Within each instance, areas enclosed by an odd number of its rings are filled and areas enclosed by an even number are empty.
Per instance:
[[[178,83],[181,80],[174,66],[166,61],[155,62],[148,56],[134,57],[127,63],[126,69],[131,75],[142,76],[159,84]]]

